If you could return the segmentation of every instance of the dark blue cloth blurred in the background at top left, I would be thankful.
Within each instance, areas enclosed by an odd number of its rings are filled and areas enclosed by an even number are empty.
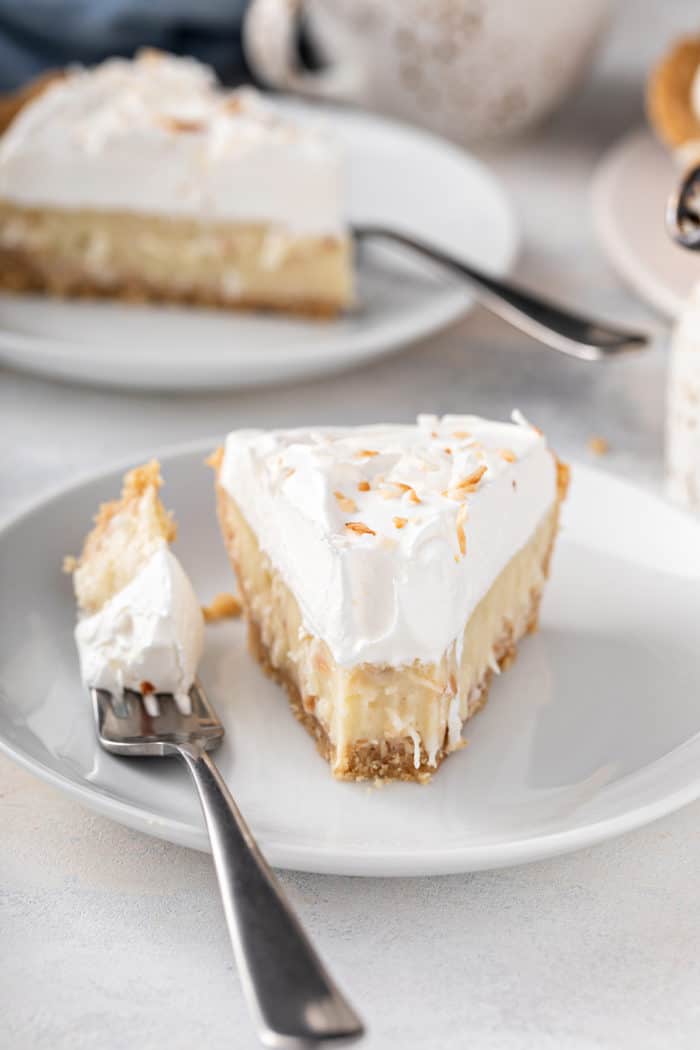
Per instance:
[[[227,84],[249,80],[247,0],[0,0],[0,90],[43,69],[91,65],[143,46],[193,55]]]

